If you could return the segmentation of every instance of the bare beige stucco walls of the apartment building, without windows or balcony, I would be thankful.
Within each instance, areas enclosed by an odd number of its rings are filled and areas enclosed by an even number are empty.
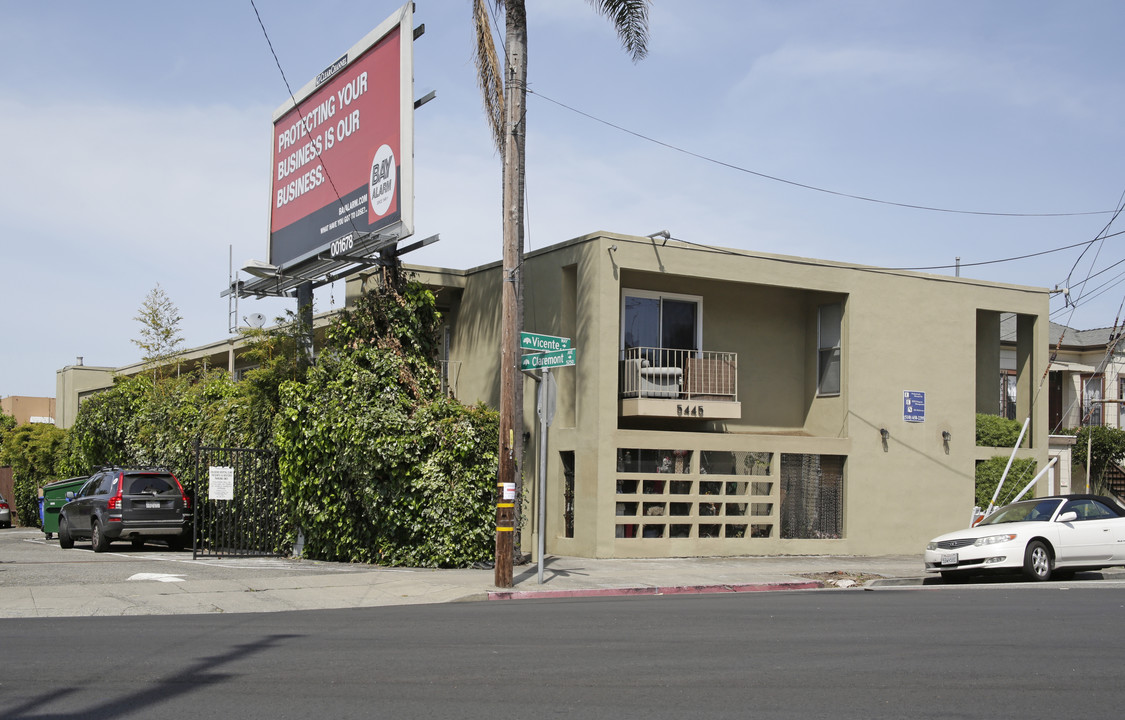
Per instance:
[[[422,269],[420,278],[440,284],[433,271]],[[555,371],[559,411],[548,442],[546,539],[548,552],[557,554],[918,552],[930,537],[965,524],[972,508],[980,353],[988,363],[993,357],[999,363],[991,344],[979,346],[979,310],[1023,314],[1033,346],[1047,344],[1043,289],[709,251],[675,241],[612,234],[578,238],[530,253],[524,282],[524,328],[572,338],[578,354],[576,367]],[[458,284],[464,290],[449,314],[450,359],[461,363],[458,396],[495,406],[498,266],[466,271]],[[738,353],[740,418],[619,418],[623,288],[702,297],[703,349]],[[817,306],[837,299],[845,300],[842,393],[817,397]],[[1045,362],[1045,352],[1032,353],[1028,371],[1042,375]],[[532,442],[524,477],[531,480],[538,452],[530,379],[526,388]],[[925,422],[903,421],[904,390],[926,394]],[[1034,408],[1030,448],[1023,451],[1041,464],[1047,447],[1045,413],[1045,403]],[[881,429],[889,432],[885,448]],[[782,539],[773,518],[768,538],[622,540],[614,534],[620,448],[688,450],[694,459],[685,477],[694,480],[702,479],[703,450],[772,452],[772,475],[764,479],[772,483],[765,500],[774,515],[781,453],[846,456],[844,537]],[[559,452],[574,453],[574,538],[562,537]],[[536,532],[525,526],[525,548],[533,547]]]

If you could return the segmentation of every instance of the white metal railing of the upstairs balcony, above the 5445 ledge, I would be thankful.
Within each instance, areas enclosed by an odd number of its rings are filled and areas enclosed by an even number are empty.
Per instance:
[[[738,353],[628,348],[621,396],[737,402]]]

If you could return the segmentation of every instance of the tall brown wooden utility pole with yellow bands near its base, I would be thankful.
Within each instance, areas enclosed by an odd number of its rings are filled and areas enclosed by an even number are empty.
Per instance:
[[[496,502],[495,578],[512,587],[515,504],[523,447],[523,375],[519,339],[523,324],[523,150],[528,78],[528,22],[523,0],[505,4],[504,82],[504,261],[501,282],[500,467]]]

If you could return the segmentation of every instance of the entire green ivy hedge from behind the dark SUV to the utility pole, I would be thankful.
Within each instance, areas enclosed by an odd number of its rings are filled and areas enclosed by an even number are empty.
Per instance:
[[[118,378],[82,403],[69,433],[6,433],[34,465],[17,469],[33,488],[21,490],[21,516],[25,505],[38,516],[40,478],[99,465],[159,465],[187,486],[201,482],[198,440],[277,451],[280,502],[307,557],[415,567],[492,557],[498,416],[442,395],[435,298],[392,279],[340,314],[314,367],[294,354],[299,325],[279,318],[248,339],[259,368],[243,382],[219,370]]]

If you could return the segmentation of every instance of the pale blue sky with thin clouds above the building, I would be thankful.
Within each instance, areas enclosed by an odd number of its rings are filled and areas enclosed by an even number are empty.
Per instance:
[[[256,0],[294,89],[400,4]],[[501,255],[469,8],[415,8],[415,96],[438,93],[415,118],[415,232],[442,240],[411,262]],[[1072,297],[1104,271],[1077,307],[1052,300],[1053,320],[1114,323],[1122,237],[971,264],[1092,241],[1110,215],[961,210],[1118,207],[1125,3],[657,0],[637,64],[582,0],[529,0],[529,15],[530,249],[668,230],[896,268],[960,256],[962,276]],[[249,0],[0,0],[0,396],[54,395],[78,356],[135,361],[133,318],[158,282],[189,346],[226,336],[228,249],[236,268],[267,258],[270,122],[286,98]],[[341,285],[317,292],[318,312],[342,303]],[[243,300],[240,314],[291,305]]]

